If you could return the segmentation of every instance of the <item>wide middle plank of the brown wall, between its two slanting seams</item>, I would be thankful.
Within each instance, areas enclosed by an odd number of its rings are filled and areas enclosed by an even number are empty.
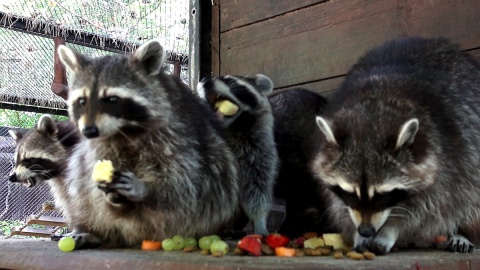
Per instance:
[[[220,36],[220,74],[263,73],[279,88],[321,81],[346,74],[387,40],[427,32],[443,32],[463,48],[480,47],[480,20],[472,15],[480,14],[480,5],[458,2],[336,0],[233,29]]]

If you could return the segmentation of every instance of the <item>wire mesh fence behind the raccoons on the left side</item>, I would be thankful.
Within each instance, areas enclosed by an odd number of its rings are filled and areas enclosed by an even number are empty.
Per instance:
[[[26,114],[30,121],[19,123],[17,112],[3,110],[6,104],[20,104],[24,111],[66,109],[66,102],[51,90],[53,38],[62,37],[68,47],[93,57],[127,53],[156,38],[168,53],[166,71],[173,73],[173,64],[180,63],[180,78],[188,82],[188,9],[185,0],[0,1],[0,235],[53,200],[46,183],[26,188],[8,181],[15,149],[8,129],[32,127],[36,118]]]

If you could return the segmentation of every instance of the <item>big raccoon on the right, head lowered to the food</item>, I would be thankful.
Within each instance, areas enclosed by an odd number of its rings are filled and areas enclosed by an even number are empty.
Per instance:
[[[409,37],[363,56],[316,117],[312,169],[359,251],[395,245],[473,252],[480,220],[480,65],[443,38]],[[478,231],[479,228],[476,228]]]

